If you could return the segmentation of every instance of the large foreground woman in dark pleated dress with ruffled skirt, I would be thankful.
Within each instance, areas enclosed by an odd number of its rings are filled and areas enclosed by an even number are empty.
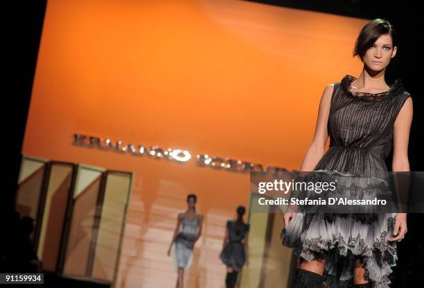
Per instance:
[[[362,72],[325,87],[301,171],[372,177],[387,171],[392,145],[392,171],[409,171],[412,97],[400,78],[392,85],[385,82],[396,51],[389,22],[374,19],[362,28],[353,51],[364,63]],[[328,135],[330,148],[324,153]],[[367,189],[371,187],[364,187],[364,193],[371,192]],[[407,232],[406,213],[304,213],[294,205],[284,221],[282,244],[299,256],[292,287],[321,287],[323,282],[330,288],[389,287],[391,266],[398,259],[396,242]]]

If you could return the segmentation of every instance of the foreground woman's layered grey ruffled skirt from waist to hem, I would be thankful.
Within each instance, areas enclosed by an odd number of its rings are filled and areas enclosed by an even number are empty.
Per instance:
[[[350,199],[389,198],[394,193],[385,177],[351,177],[326,171],[299,179],[337,180],[333,196]],[[304,197],[301,192],[294,196]],[[318,198],[319,194],[308,196]],[[362,206],[362,212],[370,213],[349,213],[348,207],[347,213],[340,213],[340,207],[332,213],[328,206],[315,213],[311,212],[313,209],[297,210],[288,227],[281,231],[281,243],[293,248],[294,254],[305,260],[325,259],[327,287],[351,287],[355,258],[358,257],[365,270],[364,278],[371,280],[373,288],[389,288],[389,274],[391,267],[396,266],[398,255],[396,242],[387,239],[393,237],[397,213],[395,202],[387,206],[384,212],[378,212],[379,209],[372,205]]]

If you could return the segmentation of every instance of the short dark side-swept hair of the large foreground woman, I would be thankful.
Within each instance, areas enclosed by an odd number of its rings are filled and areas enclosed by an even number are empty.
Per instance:
[[[361,61],[364,62],[364,56],[369,47],[373,46],[374,42],[376,42],[381,35],[387,34],[391,36],[393,48],[396,46],[396,31],[393,26],[385,19],[373,19],[362,28],[360,35],[357,36],[355,49],[353,49],[353,57],[359,56]]]

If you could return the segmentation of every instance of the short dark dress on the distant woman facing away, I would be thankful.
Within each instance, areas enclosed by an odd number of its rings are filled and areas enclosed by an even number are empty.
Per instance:
[[[240,270],[246,261],[245,244],[242,243],[242,239],[249,231],[249,223],[242,223],[239,228],[236,223],[236,221],[227,221],[229,242],[222,248],[220,259],[227,267]]]

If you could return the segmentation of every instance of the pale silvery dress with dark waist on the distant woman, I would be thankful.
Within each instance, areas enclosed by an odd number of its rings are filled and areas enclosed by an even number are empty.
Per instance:
[[[182,219],[182,230],[175,237],[174,260],[177,267],[186,269],[190,264],[193,248],[190,248],[189,244],[195,240],[199,228],[200,219]]]

